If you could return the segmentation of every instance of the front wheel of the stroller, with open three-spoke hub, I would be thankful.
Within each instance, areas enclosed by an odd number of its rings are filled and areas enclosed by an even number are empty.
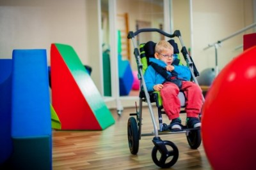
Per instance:
[[[168,150],[168,156],[163,155],[161,150],[157,146],[154,146],[152,150],[152,160],[154,163],[162,168],[168,168],[173,166],[179,158],[179,150],[177,146],[171,141],[163,141]]]

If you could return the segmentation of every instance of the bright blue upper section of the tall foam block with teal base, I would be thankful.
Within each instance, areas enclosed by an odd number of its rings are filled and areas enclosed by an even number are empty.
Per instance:
[[[46,50],[13,50],[12,136],[51,135]]]

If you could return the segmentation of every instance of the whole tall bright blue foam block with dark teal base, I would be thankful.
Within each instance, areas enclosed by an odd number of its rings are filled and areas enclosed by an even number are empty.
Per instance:
[[[46,50],[13,50],[12,169],[52,169]]]

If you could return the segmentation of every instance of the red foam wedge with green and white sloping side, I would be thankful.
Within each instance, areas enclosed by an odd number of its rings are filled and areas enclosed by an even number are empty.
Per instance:
[[[74,48],[51,45],[52,106],[62,130],[103,130],[115,124]]]

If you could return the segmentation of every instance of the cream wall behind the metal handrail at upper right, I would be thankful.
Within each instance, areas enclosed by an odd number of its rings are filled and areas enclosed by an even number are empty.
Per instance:
[[[215,66],[215,50],[211,47],[203,50],[210,43],[227,38],[244,27],[253,24],[253,5],[251,0],[216,0],[193,1],[193,52],[194,61],[199,71]],[[233,38],[223,41],[218,48],[218,65],[222,69],[243,48],[243,34],[252,32],[252,29]]]

